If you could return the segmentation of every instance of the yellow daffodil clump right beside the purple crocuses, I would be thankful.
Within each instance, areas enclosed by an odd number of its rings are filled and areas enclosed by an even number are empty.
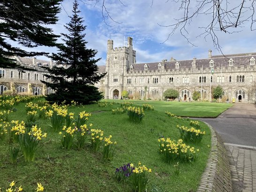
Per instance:
[[[133,168],[133,164],[131,164],[131,167]],[[145,165],[141,165],[141,162],[138,162],[138,166],[135,167],[132,172],[133,174],[130,176],[130,180],[133,191],[145,192],[149,180],[149,174],[152,170],[148,169]]]

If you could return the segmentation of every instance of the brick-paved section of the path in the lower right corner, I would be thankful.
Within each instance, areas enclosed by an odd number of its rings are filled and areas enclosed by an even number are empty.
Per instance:
[[[256,192],[256,147],[224,144],[230,163],[233,192]]]

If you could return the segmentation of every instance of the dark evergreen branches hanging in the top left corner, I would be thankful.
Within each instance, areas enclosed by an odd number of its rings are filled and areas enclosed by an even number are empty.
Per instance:
[[[46,52],[27,52],[10,40],[25,47],[55,46],[56,38],[48,24],[58,21],[61,0],[1,0],[0,1],[0,67],[17,65],[11,56],[32,57]]]

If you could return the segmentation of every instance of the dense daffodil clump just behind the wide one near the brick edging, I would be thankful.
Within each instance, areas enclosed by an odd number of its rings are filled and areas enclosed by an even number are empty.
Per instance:
[[[185,141],[191,141],[195,143],[201,142],[203,136],[205,135],[205,131],[201,131],[200,129],[195,129],[194,127],[186,127],[186,126],[179,126],[177,127],[181,133],[181,139]]]

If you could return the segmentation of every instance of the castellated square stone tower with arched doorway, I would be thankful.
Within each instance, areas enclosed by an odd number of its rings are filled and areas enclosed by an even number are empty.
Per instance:
[[[128,67],[136,63],[136,51],[133,50],[132,37],[128,37],[127,47],[113,48],[113,40],[107,41],[106,90],[109,99],[120,99],[124,90],[124,74]]]

